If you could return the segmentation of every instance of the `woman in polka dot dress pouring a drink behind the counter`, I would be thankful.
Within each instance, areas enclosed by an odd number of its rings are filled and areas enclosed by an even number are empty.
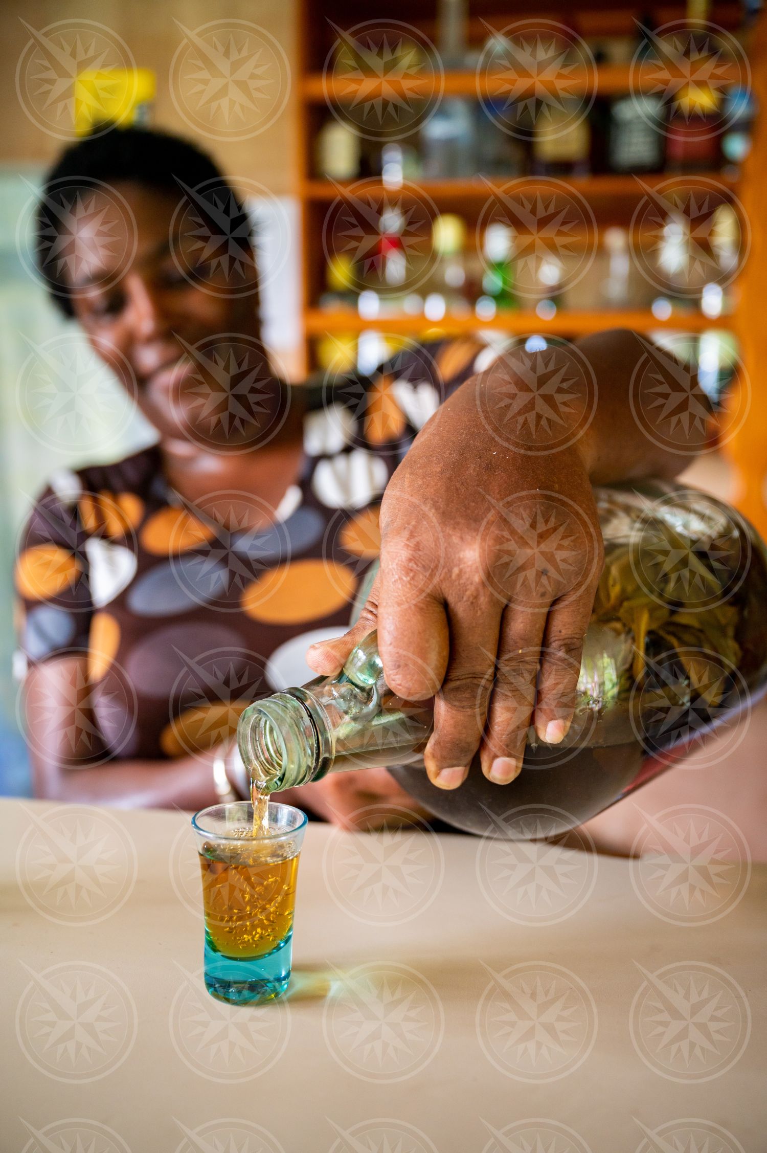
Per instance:
[[[457,787],[478,747],[486,776],[509,784],[531,716],[541,739],[563,739],[601,563],[591,485],[670,477],[704,443],[697,422],[661,437],[627,419],[642,357],[672,386],[663,354],[629,332],[549,349],[546,380],[569,397],[554,421],[536,419],[548,385],[524,351],[475,375],[487,353],[471,340],[406,349],[332,395],[291,389],[261,345],[241,205],[195,146],[143,129],[63,153],[38,264],[158,431],[127,460],[55,477],[27,526],[16,585],[39,796],[209,804],[227,789],[236,716],[280,687],[296,646],[318,641],[309,663],[333,672],[376,624],[392,687],[439,689],[436,784]],[[427,408],[443,404],[411,447],[408,397],[424,387]],[[511,445],[492,423],[506,410],[521,414]],[[384,489],[381,575],[356,628],[328,641],[377,552]],[[537,565],[546,579],[520,604],[513,574],[499,594],[478,566],[478,534],[516,495],[534,525],[542,493],[588,530],[577,563]],[[383,769],[301,791],[339,823],[373,800],[407,802]]]

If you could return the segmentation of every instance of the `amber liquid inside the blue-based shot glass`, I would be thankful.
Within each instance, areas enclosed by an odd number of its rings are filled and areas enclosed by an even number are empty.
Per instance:
[[[203,845],[205,929],[225,957],[264,957],[293,928],[299,858],[278,853],[278,845],[247,842],[226,850]]]

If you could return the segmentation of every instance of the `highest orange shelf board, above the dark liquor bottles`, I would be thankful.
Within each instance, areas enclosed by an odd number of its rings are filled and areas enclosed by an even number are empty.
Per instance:
[[[581,92],[597,92],[600,96],[617,96],[621,92],[644,91],[653,92],[659,89],[662,81],[667,80],[667,73],[661,74],[657,67],[633,68],[631,65],[599,65],[594,69],[573,69],[567,75],[566,86],[563,89],[562,76],[541,77],[536,76],[529,81],[527,90],[524,76],[507,73],[496,75],[480,75],[474,71],[448,71],[444,74],[443,92],[445,96],[467,97],[499,97],[509,96],[513,88],[514,99],[533,96],[535,91],[550,90],[561,95],[576,96]],[[683,73],[679,73],[679,81],[683,81]],[[742,71],[737,65],[716,65],[712,71],[712,80],[719,85],[727,86],[743,81]],[[309,73],[301,82],[301,95],[304,100],[311,104],[322,104],[329,100],[331,104],[345,104],[356,99],[361,85],[364,85],[366,99],[375,99],[376,83],[381,85],[381,92],[385,91],[391,96],[401,96],[413,99],[431,97],[435,95],[434,76],[412,76],[407,80],[397,77],[377,77],[353,75],[348,80],[325,76],[323,73]],[[438,86],[437,86],[438,91]]]

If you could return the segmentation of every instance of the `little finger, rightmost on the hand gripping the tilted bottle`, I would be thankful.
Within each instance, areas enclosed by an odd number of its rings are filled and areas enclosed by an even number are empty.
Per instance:
[[[535,732],[547,745],[564,740],[572,724],[584,636],[593,601],[594,594],[589,590],[563,605],[555,602],[549,610],[535,701]]]

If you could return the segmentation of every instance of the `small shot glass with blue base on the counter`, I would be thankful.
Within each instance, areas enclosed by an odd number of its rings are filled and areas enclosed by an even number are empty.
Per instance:
[[[273,1001],[287,988],[306,814],[269,806],[269,834],[253,836],[253,805],[195,813],[205,913],[205,987],[232,1004]]]

